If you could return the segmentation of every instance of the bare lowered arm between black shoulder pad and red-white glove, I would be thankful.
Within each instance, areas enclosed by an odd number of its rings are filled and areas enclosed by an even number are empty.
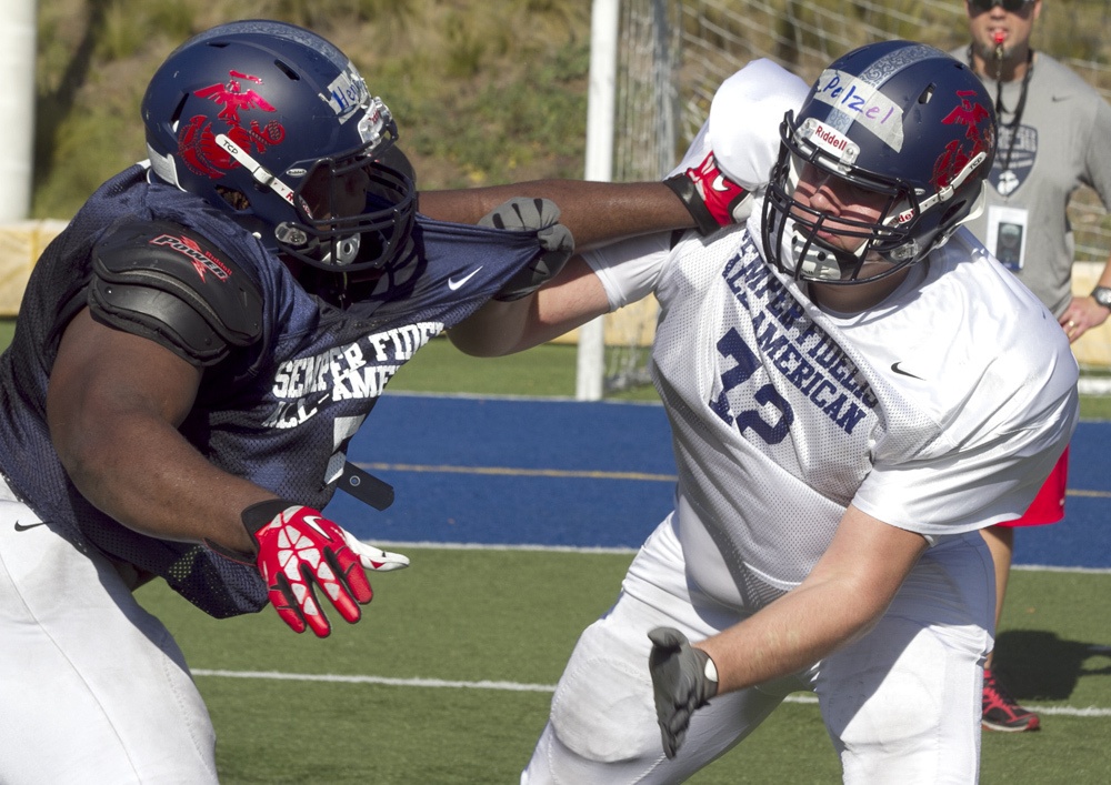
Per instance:
[[[211,464],[178,431],[201,371],[89,311],[58,348],[47,421],[59,461],[97,509],[143,534],[237,551],[251,541],[242,510],[274,494]]]

